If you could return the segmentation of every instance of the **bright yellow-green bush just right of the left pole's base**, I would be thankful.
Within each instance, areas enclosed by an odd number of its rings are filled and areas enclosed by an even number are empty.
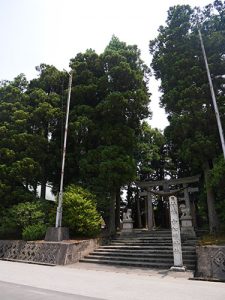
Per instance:
[[[70,228],[72,236],[96,236],[101,228],[95,196],[89,191],[71,185],[63,197],[63,225]]]

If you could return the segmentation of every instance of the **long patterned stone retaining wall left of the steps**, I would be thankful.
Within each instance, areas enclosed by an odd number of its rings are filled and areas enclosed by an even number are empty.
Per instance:
[[[62,242],[0,240],[0,259],[66,265],[79,261],[100,244],[101,239]]]

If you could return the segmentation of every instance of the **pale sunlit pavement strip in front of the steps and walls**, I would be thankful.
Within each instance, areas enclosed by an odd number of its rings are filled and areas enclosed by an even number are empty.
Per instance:
[[[179,275],[163,271],[137,271],[108,267],[90,269],[84,264],[49,267],[0,261],[0,281],[25,285],[29,287],[28,290],[32,287],[45,289],[48,292],[66,293],[67,295],[63,294],[65,297],[72,294],[74,297],[65,299],[79,299],[76,298],[78,295],[105,300],[225,299],[224,283],[192,281],[188,280],[184,273]],[[26,292],[25,288],[24,293],[27,296]],[[7,298],[4,299],[0,294],[0,299],[6,300]],[[10,298],[10,300],[15,299]],[[22,299],[34,300],[35,298],[23,297]]]

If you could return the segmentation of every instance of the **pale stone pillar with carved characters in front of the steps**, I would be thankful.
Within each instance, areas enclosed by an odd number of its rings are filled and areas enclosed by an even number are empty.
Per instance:
[[[185,271],[186,268],[183,266],[182,249],[181,249],[180,223],[179,223],[177,198],[175,196],[170,196],[169,203],[170,203],[170,221],[171,221],[171,230],[172,230],[173,258],[174,258],[174,265],[170,268],[170,270]]]

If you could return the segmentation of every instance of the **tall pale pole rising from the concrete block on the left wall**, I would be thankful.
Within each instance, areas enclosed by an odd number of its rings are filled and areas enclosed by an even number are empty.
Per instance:
[[[63,179],[64,179],[64,168],[65,168],[65,157],[66,157],[66,141],[68,132],[68,120],[69,120],[69,110],[70,110],[70,96],[72,87],[72,72],[69,74],[69,85],[68,85],[68,96],[67,96],[67,106],[66,106],[66,123],[64,131],[64,144],[63,144],[63,154],[62,154],[62,169],[61,169],[61,179],[60,179],[60,189],[59,189],[59,202],[56,213],[56,223],[55,227],[62,226],[62,202],[63,202]]]

